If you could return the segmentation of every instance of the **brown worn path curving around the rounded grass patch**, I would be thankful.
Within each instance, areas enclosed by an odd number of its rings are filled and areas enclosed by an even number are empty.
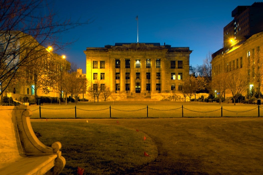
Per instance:
[[[263,174],[263,118],[118,119],[149,135],[157,159],[135,174]],[[115,119],[89,122],[116,125]]]

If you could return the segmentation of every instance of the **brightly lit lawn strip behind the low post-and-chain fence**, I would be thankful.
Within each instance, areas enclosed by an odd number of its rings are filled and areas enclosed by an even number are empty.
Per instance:
[[[184,117],[257,117],[257,105],[199,103],[199,102],[79,102],[76,105],[77,118],[180,118],[182,105]],[[109,109],[111,107],[111,111]],[[39,118],[39,106],[32,105],[31,118]],[[260,116],[263,108],[260,107]],[[75,118],[75,104],[44,104],[42,118]]]

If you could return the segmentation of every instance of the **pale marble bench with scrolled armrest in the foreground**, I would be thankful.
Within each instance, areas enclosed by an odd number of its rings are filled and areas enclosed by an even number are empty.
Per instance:
[[[31,115],[28,106],[0,106],[0,174],[59,174],[64,168],[60,142],[42,144]]]

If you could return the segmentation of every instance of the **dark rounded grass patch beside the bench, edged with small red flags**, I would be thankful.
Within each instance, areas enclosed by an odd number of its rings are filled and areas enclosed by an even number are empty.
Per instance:
[[[126,174],[153,161],[158,153],[151,138],[141,131],[82,121],[32,122],[39,140],[47,146],[60,141],[66,166],[62,174]],[[146,137],[146,140],[144,140]],[[144,156],[144,151],[150,157]]]

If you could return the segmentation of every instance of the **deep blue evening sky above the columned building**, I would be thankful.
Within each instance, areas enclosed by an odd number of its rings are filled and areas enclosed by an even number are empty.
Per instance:
[[[255,0],[239,1],[68,1],[53,2],[58,19],[91,23],[71,29],[62,35],[62,42],[76,40],[65,51],[67,60],[86,72],[86,47],[104,47],[115,43],[160,43],[172,47],[190,47],[190,65],[203,64],[209,52],[222,47],[223,28],[233,18],[237,6],[250,6]]]

